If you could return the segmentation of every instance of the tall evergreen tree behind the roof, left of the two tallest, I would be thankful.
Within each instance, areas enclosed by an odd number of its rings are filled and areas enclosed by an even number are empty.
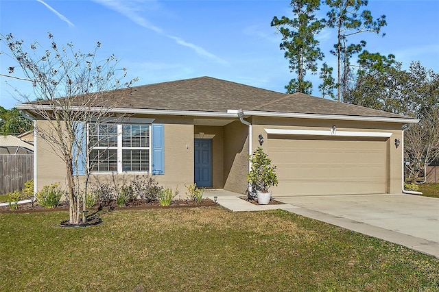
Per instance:
[[[307,72],[315,74],[318,71],[317,61],[323,59],[323,53],[318,47],[319,42],[314,38],[322,27],[322,21],[316,18],[320,8],[320,0],[292,0],[290,3],[294,19],[274,16],[271,25],[282,34],[281,50],[289,60],[289,69],[296,73],[285,89],[287,93],[311,94],[312,84],[305,80]]]

